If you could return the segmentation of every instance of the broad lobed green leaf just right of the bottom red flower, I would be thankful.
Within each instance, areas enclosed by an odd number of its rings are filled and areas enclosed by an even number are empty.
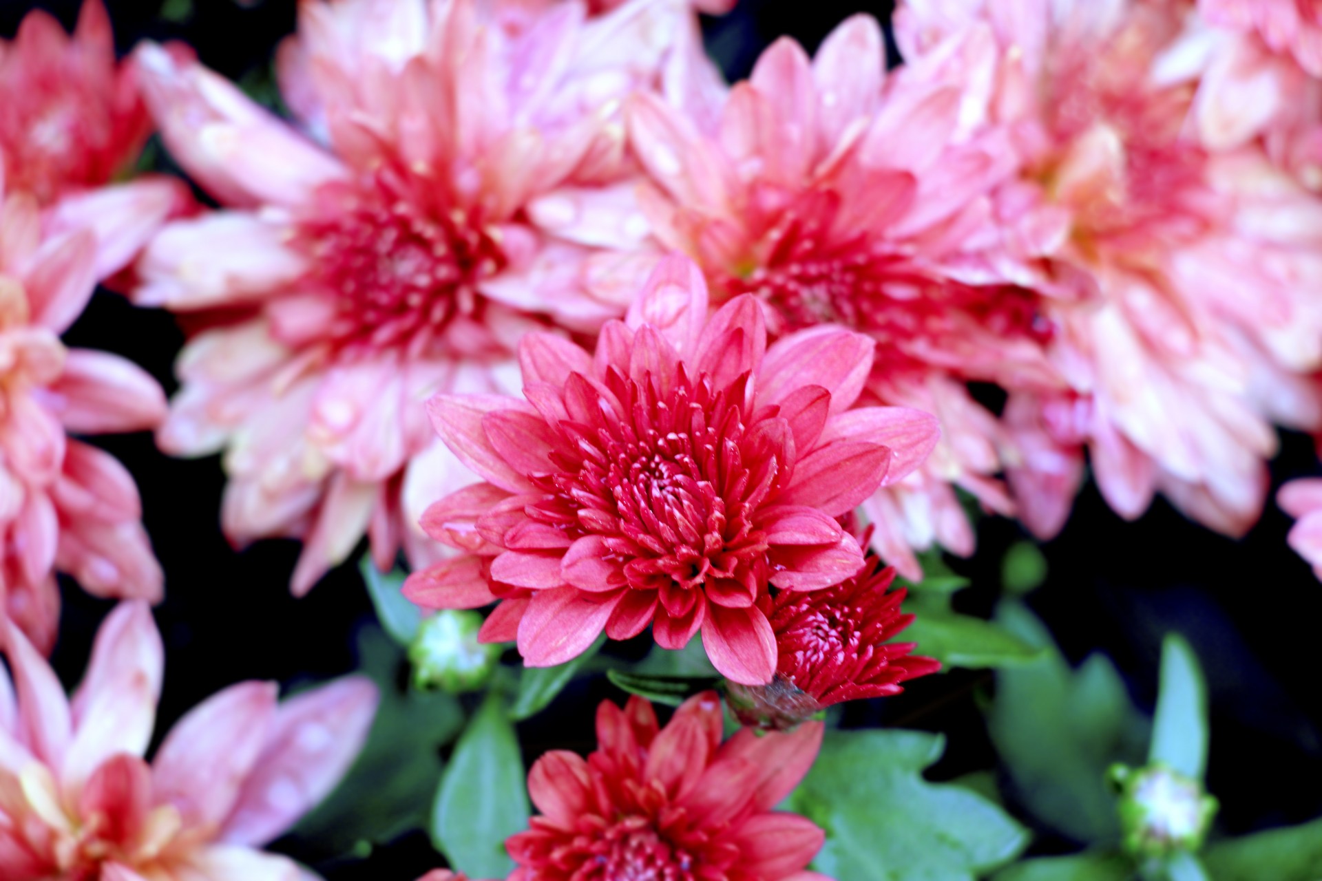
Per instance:
[[[1013,860],[1027,831],[962,786],[928,783],[939,734],[833,730],[791,810],[826,829],[814,868],[849,881],[972,881]]]

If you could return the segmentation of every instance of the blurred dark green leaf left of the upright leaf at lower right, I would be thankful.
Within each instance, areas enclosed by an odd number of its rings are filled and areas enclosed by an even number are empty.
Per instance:
[[[1107,769],[1141,765],[1147,730],[1114,666],[1103,655],[1069,668],[1026,606],[1002,602],[997,621],[1042,650],[997,672],[988,730],[1017,800],[1043,824],[1083,843],[1120,837]]]

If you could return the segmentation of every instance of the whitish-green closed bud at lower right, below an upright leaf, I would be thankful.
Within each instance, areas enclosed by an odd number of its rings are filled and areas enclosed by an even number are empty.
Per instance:
[[[1113,765],[1108,777],[1120,795],[1122,844],[1130,855],[1163,857],[1203,845],[1218,803],[1198,781],[1162,763]]]

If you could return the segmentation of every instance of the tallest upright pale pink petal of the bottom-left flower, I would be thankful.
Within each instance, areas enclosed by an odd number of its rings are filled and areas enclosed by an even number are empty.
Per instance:
[[[165,647],[141,600],[119,604],[97,633],[73,700],[74,738],[63,765],[69,798],[115,753],[144,756],[156,724]]]

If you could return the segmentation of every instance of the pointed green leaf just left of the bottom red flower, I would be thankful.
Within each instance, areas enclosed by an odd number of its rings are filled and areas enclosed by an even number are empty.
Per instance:
[[[452,868],[473,878],[514,869],[505,839],[527,828],[526,774],[514,726],[492,695],[459,738],[440,778],[431,831]]]

